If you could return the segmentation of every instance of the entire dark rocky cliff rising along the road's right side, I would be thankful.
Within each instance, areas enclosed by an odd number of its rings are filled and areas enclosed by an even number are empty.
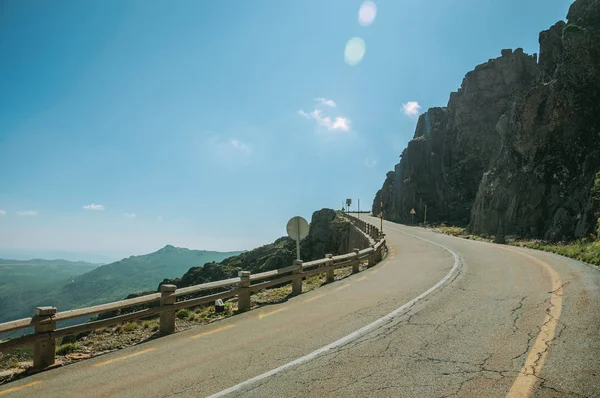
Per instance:
[[[600,170],[600,0],[469,72],[416,132],[375,197],[386,219],[467,224],[478,234],[562,240],[594,230]]]

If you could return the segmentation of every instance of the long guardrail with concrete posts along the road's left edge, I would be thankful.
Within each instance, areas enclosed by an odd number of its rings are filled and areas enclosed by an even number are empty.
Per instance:
[[[172,334],[175,332],[175,314],[178,310],[212,303],[218,299],[236,297],[238,299],[238,312],[250,310],[250,295],[262,289],[292,282],[292,296],[302,293],[302,280],[308,276],[325,272],[327,282],[333,282],[336,268],[352,266],[352,273],[359,272],[361,260],[368,259],[368,267],[374,266],[383,259],[386,242],[383,234],[374,225],[368,224],[349,214],[344,214],[353,225],[367,235],[370,247],[339,256],[326,255],[325,258],[303,262],[295,260],[294,264],[273,271],[251,274],[250,271],[240,271],[238,277],[221,281],[203,283],[177,289],[175,285],[162,285],[160,293],[116,301],[93,307],[57,312],[56,307],[37,307],[31,318],[19,319],[0,324],[0,334],[14,330],[33,327],[34,333],[15,339],[0,341],[0,352],[33,344],[33,368],[41,370],[55,362],[56,339],[89,332],[106,326],[116,325],[135,319],[160,315],[160,332]],[[184,296],[197,295],[215,289],[228,289],[222,292],[187,298]],[[181,299],[178,301],[178,299]],[[148,305],[150,308],[132,313],[115,316],[108,319],[86,322],[80,325],[56,328],[56,323],[69,319],[115,311],[139,305]]]

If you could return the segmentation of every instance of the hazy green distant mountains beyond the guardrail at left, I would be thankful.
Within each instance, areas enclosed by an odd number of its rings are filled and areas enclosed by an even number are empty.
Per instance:
[[[131,292],[155,290],[164,278],[173,278],[191,267],[222,261],[240,253],[189,250],[167,245],[154,253],[131,256],[99,267],[93,264],[90,267],[88,264],[87,269],[84,265],[86,263],[69,265],[65,262],[59,266],[55,262],[52,265],[55,277],[48,277],[46,283],[38,281],[30,285],[23,284],[19,275],[26,271],[35,274],[36,269],[42,272],[42,268],[36,267],[34,261],[23,262],[29,265],[12,264],[4,270],[0,265],[0,281],[21,281],[18,289],[12,288],[6,292],[1,290],[0,285],[0,322],[31,316],[37,306],[52,305],[59,311],[64,311],[120,300]],[[75,273],[74,268],[77,267],[83,272]],[[11,273],[8,273],[9,269]],[[13,287],[16,286],[15,283],[12,284]]]

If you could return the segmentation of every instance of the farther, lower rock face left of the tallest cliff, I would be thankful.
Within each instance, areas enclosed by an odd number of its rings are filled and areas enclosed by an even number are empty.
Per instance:
[[[384,217],[409,222],[414,208],[423,220],[467,223],[481,176],[500,147],[496,123],[511,98],[527,90],[538,74],[536,56],[522,49],[469,72],[448,106],[419,118],[414,138],[394,171],[387,174],[373,204]]]

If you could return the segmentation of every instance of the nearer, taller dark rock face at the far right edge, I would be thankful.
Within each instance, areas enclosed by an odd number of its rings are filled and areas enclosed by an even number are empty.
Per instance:
[[[479,185],[470,228],[566,240],[594,231],[600,170],[600,1],[540,34],[540,74],[498,121],[498,156]]]

